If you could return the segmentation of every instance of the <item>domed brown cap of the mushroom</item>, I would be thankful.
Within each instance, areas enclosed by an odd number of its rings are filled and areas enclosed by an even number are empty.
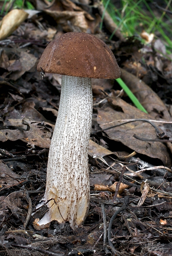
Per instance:
[[[68,32],[51,41],[37,65],[47,73],[116,79],[120,69],[110,48],[88,33]]]

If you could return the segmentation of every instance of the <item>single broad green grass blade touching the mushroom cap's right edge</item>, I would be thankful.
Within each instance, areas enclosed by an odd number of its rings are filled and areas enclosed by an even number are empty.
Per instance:
[[[141,111],[148,113],[146,109],[140,104],[139,100],[135,97],[135,95],[130,91],[128,86],[123,82],[121,78],[116,79],[116,82],[119,83],[119,85],[122,87],[124,92],[128,95],[128,97],[131,99],[131,101],[134,103],[134,105],[140,109]]]

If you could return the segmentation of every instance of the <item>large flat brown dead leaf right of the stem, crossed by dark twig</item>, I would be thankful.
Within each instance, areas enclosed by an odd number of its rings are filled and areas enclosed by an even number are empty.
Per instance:
[[[120,98],[110,99],[110,107],[98,109],[97,122],[101,129],[108,128],[112,125],[119,124],[114,122],[121,119],[152,119],[152,117],[139,109],[127,104]],[[141,138],[157,138],[156,132],[152,125],[145,122],[133,122],[105,131],[113,140],[122,142],[127,147],[138,153],[145,154],[152,158],[160,159],[165,166],[171,167],[171,158],[167,147],[160,142],[146,142],[133,137],[134,134]]]

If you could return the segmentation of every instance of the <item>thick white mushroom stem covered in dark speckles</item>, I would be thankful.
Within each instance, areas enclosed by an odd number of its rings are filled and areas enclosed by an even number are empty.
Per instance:
[[[62,76],[59,112],[47,166],[45,218],[73,228],[82,224],[89,208],[88,146],[92,120],[91,78]],[[52,205],[53,204],[53,205]],[[51,207],[52,206],[52,207]],[[44,218],[40,221],[45,224]],[[46,221],[46,222],[49,222]]]

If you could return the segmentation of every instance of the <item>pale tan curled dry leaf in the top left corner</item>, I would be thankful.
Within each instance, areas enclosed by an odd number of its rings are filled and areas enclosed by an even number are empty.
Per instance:
[[[14,9],[7,13],[0,22],[0,40],[10,36],[27,17],[24,10]]]

